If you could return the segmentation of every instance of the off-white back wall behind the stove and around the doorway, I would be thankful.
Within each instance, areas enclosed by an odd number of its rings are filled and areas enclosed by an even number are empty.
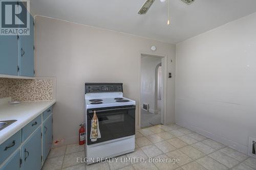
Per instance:
[[[151,52],[152,45],[156,52]],[[78,125],[83,122],[84,82],[122,82],[124,96],[138,103],[140,52],[167,55],[167,71],[175,75],[174,44],[36,16],[35,73],[57,80],[54,139],[77,142]],[[175,122],[174,97],[175,78],[167,80],[167,123]],[[136,115],[139,128],[138,109]]]

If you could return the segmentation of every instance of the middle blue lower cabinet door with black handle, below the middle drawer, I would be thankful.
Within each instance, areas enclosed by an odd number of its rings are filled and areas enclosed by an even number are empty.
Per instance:
[[[41,128],[24,143],[22,146],[22,169],[41,169]]]

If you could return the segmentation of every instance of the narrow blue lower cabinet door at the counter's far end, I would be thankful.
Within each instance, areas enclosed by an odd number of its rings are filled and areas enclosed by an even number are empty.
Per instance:
[[[46,160],[47,155],[49,154],[52,147],[52,115],[50,115],[44,124],[42,125],[44,129],[43,139],[44,139],[44,161]]]

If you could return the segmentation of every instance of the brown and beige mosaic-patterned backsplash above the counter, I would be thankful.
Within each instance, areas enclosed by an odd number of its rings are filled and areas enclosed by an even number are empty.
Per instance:
[[[0,98],[12,101],[46,101],[53,99],[52,79],[0,78]]]

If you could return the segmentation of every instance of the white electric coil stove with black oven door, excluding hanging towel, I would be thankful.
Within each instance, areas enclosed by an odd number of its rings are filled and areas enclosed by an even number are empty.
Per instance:
[[[133,152],[136,103],[123,97],[122,83],[86,83],[85,93],[87,163]],[[94,111],[101,135],[96,141],[90,139]]]

